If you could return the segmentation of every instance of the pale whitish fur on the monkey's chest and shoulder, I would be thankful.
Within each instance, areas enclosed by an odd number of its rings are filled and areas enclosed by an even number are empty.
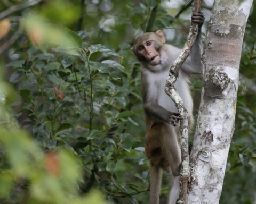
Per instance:
[[[170,53],[170,50],[172,50],[174,53],[179,53],[180,49],[171,45],[165,46],[166,47],[161,53],[161,63],[156,66],[147,65],[147,68],[142,66],[141,72],[143,73],[143,77],[146,78],[143,81],[147,82],[148,98],[154,100],[158,105],[164,107],[168,111],[177,112],[174,102],[165,93],[164,89],[170,67],[177,57]],[[187,75],[183,74],[183,72],[179,72],[179,78],[175,82],[174,87],[180,97],[183,99],[185,106],[188,109],[188,115],[192,115],[193,101],[191,98],[188,81],[189,79]]]

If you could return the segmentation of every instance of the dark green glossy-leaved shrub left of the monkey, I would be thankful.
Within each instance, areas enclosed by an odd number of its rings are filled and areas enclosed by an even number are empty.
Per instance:
[[[46,49],[46,44],[44,51],[31,47],[22,62],[7,64],[15,67],[10,81],[22,98],[20,104],[14,104],[21,106],[17,117],[46,151],[69,149],[78,155],[83,164],[83,191],[96,181],[108,194],[128,194],[133,187],[117,182],[120,170],[116,164],[127,159],[124,151],[138,146],[137,139],[126,132],[127,124],[138,124],[132,119],[134,112],[127,108],[130,98],[123,95],[140,100],[138,84],[135,89],[129,87],[134,79],[118,63],[120,55],[100,44],[82,43],[81,37],[68,29],[63,32],[74,44],[71,49],[70,45]],[[93,60],[95,53],[99,53],[97,61]],[[142,151],[133,152],[134,156],[129,156],[133,160],[144,158]],[[55,199],[61,203],[65,197],[59,197]]]

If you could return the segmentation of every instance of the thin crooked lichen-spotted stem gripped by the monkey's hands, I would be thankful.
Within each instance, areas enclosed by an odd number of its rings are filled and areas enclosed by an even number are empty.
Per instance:
[[[201,0],[194,0],[194,7],[193,12],[198,12],[201,7]],[[169,76],[166,80],[165,85],[165,92],[167,95],[171,97],[171,99],[174,101],[178,112],[182,115],[182,120],[180,121],[180,132],[181,132],[181,173],[180,173],[180,198],[178,203],[179,204],[187,204],[187,186],[189,181],[189,175],[190,175],[190,168],[189,168],[189,155],[188,155],[188,116],[187,116],[187,109],[185,107],[185,104],[183,103],[183,100],[180,98],[178,93],[174,89],[174,83],[176,82],[178,75],[179,75],[179,69],[183,62],[187,59],[189,56],[191,47],[197,37],[197,23],[191,22],[190,24],[190,31],[187,37],[186,44],[184,45],[184,48],[182,49],[182,52],[180,53],[179,57],[174,61],[174,63],[171,66]]]

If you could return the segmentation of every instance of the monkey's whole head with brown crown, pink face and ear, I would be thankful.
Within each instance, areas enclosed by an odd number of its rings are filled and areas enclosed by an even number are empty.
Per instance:
[[[142,33],[135,40],[132,51],[142,64],[157,65],[161,62],[161,48],[165,43],[164,33],[156,32]]]

